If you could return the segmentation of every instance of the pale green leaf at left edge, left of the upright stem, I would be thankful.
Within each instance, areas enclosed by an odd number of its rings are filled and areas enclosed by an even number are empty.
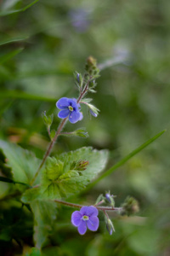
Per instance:
[[[7,159],[7,166],[11,167],[14,180],[21,183],[30,183],[37,172],[40,160],[20,146],[0,140],[0,148]]]

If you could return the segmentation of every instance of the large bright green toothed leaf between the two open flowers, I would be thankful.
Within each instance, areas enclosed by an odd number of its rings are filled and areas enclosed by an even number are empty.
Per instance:
[[[27,189],[21,200],[27,203],[36,199],[54,200],[75,195],[105,168],[107,158],[106,150],[93,148],[80,148],[57,157],[48,157],[42,171],[41,186]],[[71,170],[72,163],[78,160],[89,162],[86,170]]]

